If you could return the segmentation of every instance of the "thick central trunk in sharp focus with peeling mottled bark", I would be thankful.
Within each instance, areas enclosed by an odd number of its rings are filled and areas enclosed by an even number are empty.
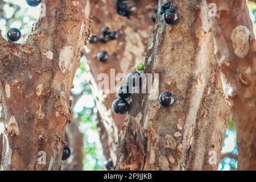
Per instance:
[[[159,3],[162,3],[160,1]],[[213,55],[206,1],[174,1],[175,26],[158,14],[144,64],[159,73],[159,92],[177,102],[160,106],[149,94],[134,94],[119,135],[115,169],[216,170],[221,158],[228,111]],[[209,154],[216,154],[216,164]]]

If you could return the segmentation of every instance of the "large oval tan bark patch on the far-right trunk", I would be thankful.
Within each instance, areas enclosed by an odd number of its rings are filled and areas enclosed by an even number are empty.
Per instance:
[[[234,47],[234,53],[243,58],[249,53],[250,31],[246,26],[237,26],[231,34],[231,40]]]

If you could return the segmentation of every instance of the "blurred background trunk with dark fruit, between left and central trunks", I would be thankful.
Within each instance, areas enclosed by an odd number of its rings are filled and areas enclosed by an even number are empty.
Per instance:
[[[101,121],[104,123],[105,131],[108,133],[110,158],[115,163],[118,130],[123,125],[125,117],[112,113],[111,105],[117,96],[113,92],[112,94],[102,92],[103,90],[97,86],[101,82],[101,80],[97,80],[97,76],[100,73],[106,73],[110,82],[110,69],[115,69],[115,75],[118,73],[126,74],[133,71],[135,64],[142,61],[144,46],[154,28],[151,14],[156,8],[156,1],[134,1],[136,10],[129,19],[117,14],[115,1],[93,1],[91,6],[93,9],[92,34],[100,35],[101,28],[104,26],[119,32],[117,40],[112,40],[106,44],[88,44],[85,53],[90,67],[88,76],[97,109]],[[110,57],[106,63],[100,63],[96,59],[96,55],[97,52],[104,50],[109,52]],[[112,75],[112,80],[114,80],[115,75]],[[109,89],[115,90],[114,86],[109,86]]]

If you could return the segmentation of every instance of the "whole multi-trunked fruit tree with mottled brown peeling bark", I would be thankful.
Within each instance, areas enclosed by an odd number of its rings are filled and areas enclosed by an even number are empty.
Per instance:
[[[90,5],[85,0],[43,2],[46,17],[26,44],[0,37],[3,170],[60,169],[65,126],[71,121],[69,92],[89,35]],[[108,25],[121,35],[118,41],[88,45],[84,51],[101,140],[114,168],[216,170],[230,108],[237,129],[238,169],[255,169],[255,40],[246,2],[173,1],[179,23],[166,24],[158,14],[151,36],[154,1],[133,2],[137,11],[126,19],[116,14],[113,1],[93,1],[93,33]],[[110,53],[105,64],[96,60],[101,49]],[[115,94],[104,94],[97,76],[110,75],[110,68],[133,71],[143,54],[144,72],[154,76],[152,88],[133,94],[129,113],[117,117],[110,111]],[[161,106],[152,97],[158,89],[174,93],[177,102]],[[45,165],[39,164],[39,151],[46,152]]]

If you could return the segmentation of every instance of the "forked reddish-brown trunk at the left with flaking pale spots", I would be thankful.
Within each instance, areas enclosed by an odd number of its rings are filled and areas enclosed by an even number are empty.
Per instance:
[[[89,35],[90,6],[87,0],[42,3],[46,13],[26,44],[0,36],[2,170],[60,169],[65,126],[72,118],[69,93]],[[39,151],[46,152],[45,165]]]

